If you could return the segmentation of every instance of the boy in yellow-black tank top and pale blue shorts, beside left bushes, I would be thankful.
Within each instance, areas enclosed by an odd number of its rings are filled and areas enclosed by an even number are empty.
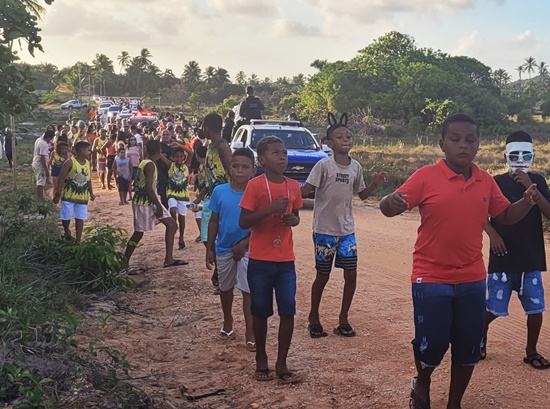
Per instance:
[[[90,180],[90,144],[79,141],[74,145],[74,151],[75,155],[61,166],[53,202],[57,204],[61,199],[59,218],[67,238],[71,237],[69,226],[74,217],[75,238],[80,243],[84,220],[88,218],[88,200],[95,200],[95,195]]]

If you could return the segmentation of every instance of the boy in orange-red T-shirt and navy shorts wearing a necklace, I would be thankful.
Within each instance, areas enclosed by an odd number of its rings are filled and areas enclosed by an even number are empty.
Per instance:
[[[300,223],[302,207],[300,185],[283,176],[288,164],[283,141],[275,136],[262,138],[256,147],[258,161],[265,173],[246,187],[241,200],[239,225],[250,228],[248,286],[250,287],[252,326],[256,338],[258,381],[274,378],[265,349],[267,319],[273,315],[273,290],[279,312],[279,345],[275,372],[281,383],[297,383],[301,377],[286,364],[296,314],[296,270],[292,227]]]

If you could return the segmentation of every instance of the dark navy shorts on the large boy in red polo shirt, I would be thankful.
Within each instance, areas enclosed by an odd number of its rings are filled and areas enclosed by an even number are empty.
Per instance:
[[[414,357],[436,367],[451,345],[452,362],[479,362],[485,330],[485,280],[464,284],[414,283]]]

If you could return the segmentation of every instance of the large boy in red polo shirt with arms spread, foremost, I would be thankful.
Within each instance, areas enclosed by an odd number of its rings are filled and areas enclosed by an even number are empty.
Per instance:
[[[523,198],[510,202],[494,179],[472,161],[479,132],[464,114],[448,117],[439,140],[445,158],[417,170],[380,202],[393,217],[418,206],[420,227],[413,254],[414,357],[409,407],[430,407],[431,374],[451,344],[451,385],[447,409],[460,409],[474,366],[479,362],[484,332],[486,270],[483,229],[490,215],[514,224],[541,195],[531,185]]]

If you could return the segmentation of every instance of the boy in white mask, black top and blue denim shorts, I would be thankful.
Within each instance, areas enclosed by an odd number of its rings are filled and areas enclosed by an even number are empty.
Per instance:
[[[494,177],[504,196],[514,203],[535,183],[541,197],[537,205],[518,223],[505,226],[490,220],[485,227],[491,240],[491,252],[481,359],[487,356],[489,324],[497,317],[508,315],[510,297],[516,291],[527,315],[527,345],[523,362],[535,369],[548,369],[550,361],[537,352],[537,341],[542,327],[542,313],[545,311],[541,271],[546,271],[546,254],[541,214],[550,218],[550,190],[542,175],[529,172],[534,149],[528,133],[511,133],[506,138],[504,156],[509,171]]]

